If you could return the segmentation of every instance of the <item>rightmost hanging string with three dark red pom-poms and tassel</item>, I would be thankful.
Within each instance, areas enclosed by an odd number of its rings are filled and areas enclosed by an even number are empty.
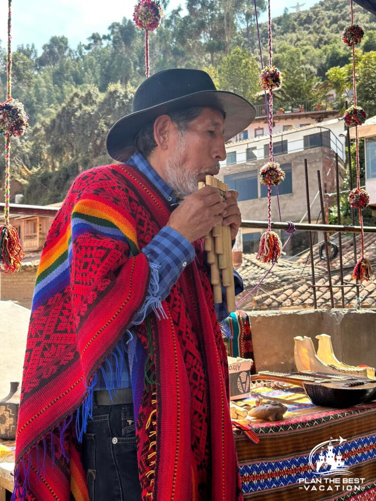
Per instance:
[[[356,100],[355,45],[359,43],[361,37],[363,36],[363,30],[358,25],[354,25],[352,0],[350,0],[350,12],[351,12],[351,25],[347,26],[343,30],[342,40],[346,45],[352,47],[352,87],[354,94],[354,104],[353,106],[351,106],[346,110],[346,113],[343,118],[345,120],[346,125],[348,125],[349,127],[355,127],[356,188],[351,190],[351,192],[349,193],[348,201],[351,207],[358,209],[359,224],[360,224],[361,256],[352,272],[352,279],[362,283],[364,281],[372,280],[373,278],[371,265],[369,261],[366,258],[364,258],[364,231],[363,231],[362,209],[366,207],[366,205],[368,204],[369,195],[364,189],[360,188],[360,166],[359,166],[358,125],[364,123],[366,118],[366,113],[362,108],[357,106],[357,100]]]

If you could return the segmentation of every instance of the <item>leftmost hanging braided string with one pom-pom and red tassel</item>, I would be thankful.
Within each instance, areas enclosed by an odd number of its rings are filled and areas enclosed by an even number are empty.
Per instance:
[[[20,137],[27,130],[28,116],[24,106],[17,99],[12,99],[12,0],[8,0],[8,58],[7,58],[7,100],[0,104],[0,133],[5,136],[5,209],[3,225],[0,225],[0,268],[5,273],[19,272],[23,253],[20,237],[9,220],[11,198],[11,136]]]

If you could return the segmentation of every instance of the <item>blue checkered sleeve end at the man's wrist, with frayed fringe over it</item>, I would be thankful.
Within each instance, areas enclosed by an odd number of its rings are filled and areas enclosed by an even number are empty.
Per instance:
[[[172,286],[187,265],[195,259],[195,249],[181,233],[163,226],[142,252],[149,263],[159,266],[159,275],[170,276]]]

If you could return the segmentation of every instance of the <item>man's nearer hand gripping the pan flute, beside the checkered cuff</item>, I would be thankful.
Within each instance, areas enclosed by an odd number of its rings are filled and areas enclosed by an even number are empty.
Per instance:
[[[221,214],[228,204],[228,200],[222,201],[217,188],[205,186],[187,196],[171,213],[166,225],[194,242],[209,233],[213,226],[222,223]]]

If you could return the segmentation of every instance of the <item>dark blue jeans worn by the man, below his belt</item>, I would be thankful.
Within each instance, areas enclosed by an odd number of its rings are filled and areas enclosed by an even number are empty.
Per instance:
[[[82,461],[90,501],[141,501],[133,404],[94,405]]]

